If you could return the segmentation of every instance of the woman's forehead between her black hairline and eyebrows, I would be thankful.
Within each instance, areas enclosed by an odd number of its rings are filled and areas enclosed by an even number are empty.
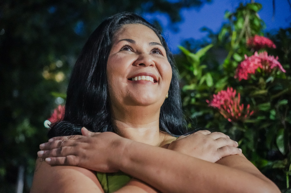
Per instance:
[[[143,24],[125,24],[114,35],[113,43],[120,39],[143,40],[161,43],[156,33]]]

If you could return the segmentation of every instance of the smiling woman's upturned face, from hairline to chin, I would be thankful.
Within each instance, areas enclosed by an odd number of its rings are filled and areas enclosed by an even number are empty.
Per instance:
[[[160,107],[171,78],[166,50],[152,29],[142,24],[125,24],[117,31],[107,61],[111,107]]]

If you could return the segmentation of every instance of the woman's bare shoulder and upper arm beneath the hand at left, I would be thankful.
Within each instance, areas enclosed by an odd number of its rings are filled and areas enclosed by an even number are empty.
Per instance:
[[[95,174],[76,166],[50,166],[37,158],[31,193],[103,192]]]

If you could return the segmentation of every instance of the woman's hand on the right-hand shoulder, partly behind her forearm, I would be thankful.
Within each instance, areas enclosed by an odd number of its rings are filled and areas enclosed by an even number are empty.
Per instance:
[[[202,130],[180,136],[169,144],[168,149],[215,163],[222,157],[241,154],[242,150],[237,146],[236,141],[223,133]]]

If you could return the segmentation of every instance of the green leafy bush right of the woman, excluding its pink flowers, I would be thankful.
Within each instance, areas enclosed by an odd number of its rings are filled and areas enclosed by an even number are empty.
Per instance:
[[[235,13],[226,12],[228,22],[220,32],[208,29],[211,44],[187,41],[180,47],[183,54],[176,57],[181,74],[182,104],[192,129],[221,131],[239,142],[244,155],[282,192],[290,191],[291,175],[290,128],[291,128],[291,28],[280,29],[277,34],[266,34],[276,49],[261,49],[269,55],[279,56],[286,73],[256,73],[248,80],[234,78],[236,68],[244,55],[252,56],[248,38],[264,35],[264,22],[260,19],[259,3],[240,4]],[[210,50],[209,48],[212,47]],[[191,49],[190,52],[188,51]],[[195,53],[196,52],[196,53]],[[250,104],[254,114],[249,119],[228,121],[206,100],[227,87],[241,94],[241,101]]]

